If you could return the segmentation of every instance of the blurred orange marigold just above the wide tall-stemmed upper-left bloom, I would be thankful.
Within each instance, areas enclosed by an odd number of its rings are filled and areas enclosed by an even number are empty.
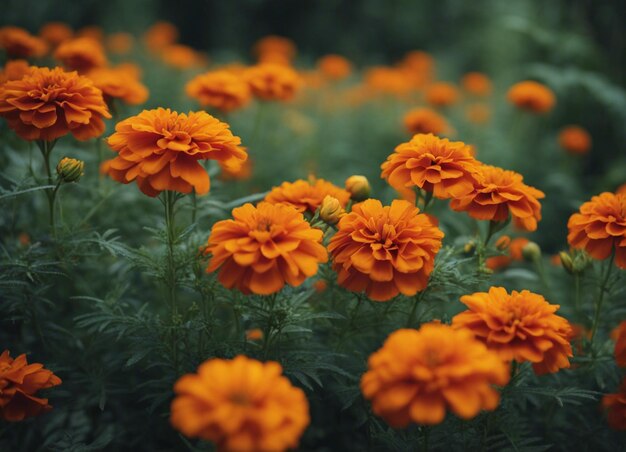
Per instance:
[[[187,83],[185,90],[203,107],[210,106],[224,112],[245,107],[252,98],[250,86],[241,74],[228,70],[198,75]]]

